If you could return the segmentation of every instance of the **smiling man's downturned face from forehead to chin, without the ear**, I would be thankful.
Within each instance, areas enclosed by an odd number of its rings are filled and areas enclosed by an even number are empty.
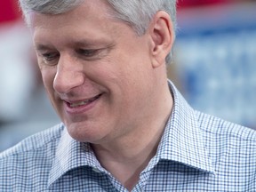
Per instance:
[[[92,143],[140,129],[153,113],[148,35],[110,19],[107,8],[93,0],[64,14],[31,14],[52,105],[74,139]]]

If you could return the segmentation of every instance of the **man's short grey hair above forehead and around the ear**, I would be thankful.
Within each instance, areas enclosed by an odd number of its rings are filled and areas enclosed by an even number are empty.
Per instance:
[[[60,14],[68,12],[85,0],[20,0],[20,7],[26,22],[30,23],[28,13],[40,12],[44,14]],[[167,12],[176,30],[176,1],[177,0],[107,0],[114,11],[114,17],[123,20],[134,28],[138,36],[142,36],[148,29],[150,20],[156,12]],[[172,52],[166,57],[166,63],[172,60]]]

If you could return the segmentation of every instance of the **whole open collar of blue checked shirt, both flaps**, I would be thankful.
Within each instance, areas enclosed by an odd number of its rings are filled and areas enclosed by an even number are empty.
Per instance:
[[[168,84],[174,105],[156,157],[186,164],[204,172],[214,173],[208,150],[204,144],[204,132],[200,130],[195,111],[190,108],[172,82],[169,81]],[[149,168],[150,164],[148,165]],[[100,170],[100,172],[106,172],[100,166],[90,144],[72,139],[67,129],[64,129],[52,162],[48,186],[50,187],[66,172],[79,166],[90,166]]]

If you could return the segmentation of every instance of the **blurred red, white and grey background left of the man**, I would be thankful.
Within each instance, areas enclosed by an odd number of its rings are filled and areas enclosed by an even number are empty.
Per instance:
[[[0,1],[0,151],[60,122],[15,0]]]

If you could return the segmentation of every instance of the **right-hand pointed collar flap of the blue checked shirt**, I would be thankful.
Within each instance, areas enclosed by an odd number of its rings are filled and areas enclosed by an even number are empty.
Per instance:
[[[200,129],[195,110],[188,105],[171,81],[168,84],[174,104],[156,157],[214,174],[209,151],[205,147],[204,132]]]

